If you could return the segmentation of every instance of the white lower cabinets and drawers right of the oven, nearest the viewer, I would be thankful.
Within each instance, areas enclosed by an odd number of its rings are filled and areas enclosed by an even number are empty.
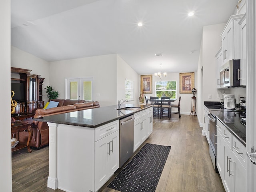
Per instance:
[[[217,120],[217,168],[226,192],[246,191],[246,148]]]

